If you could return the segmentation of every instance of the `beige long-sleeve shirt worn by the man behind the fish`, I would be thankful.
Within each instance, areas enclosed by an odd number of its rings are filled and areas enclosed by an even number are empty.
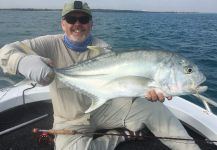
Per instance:
[[[63,34],[47,35],[5,45],[0,50],[0,66],[4,72],[16,74],[19,60],[26,55],[24,53],[26,49],[23,48],[23,45],[33,50],[37,55],[50,58],[56,68],[67,67],[104,52],[103,50],[87,50],[82,53],[73,51],[64,45],[63,37]],[[97,47],[109,46],[104,41],[96,38],[94,38],[92,45]],[[67,124],[89,124],[90,115],[84,114],[84,111],[91,104],[88,97],[66,87],[57,79],[54,79],[49,87],[55,123],[64,123],[66,126]]]

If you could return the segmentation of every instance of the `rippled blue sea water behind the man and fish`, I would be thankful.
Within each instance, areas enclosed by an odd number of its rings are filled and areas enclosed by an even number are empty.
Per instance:
[[[62,33],[60,10],[0,10],[0,47],[37,36]],[[217,14],[94,11],[92,34],[114,50],[163,49],[196,63],[217,101]],[[19,76],[4,75],[19,81]],[[6,86],[0,81],[0,88]]]

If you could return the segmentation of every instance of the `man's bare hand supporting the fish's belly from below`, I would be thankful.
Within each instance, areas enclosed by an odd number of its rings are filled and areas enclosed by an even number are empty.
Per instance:
[[[156,93],[155,90],[148,91],[148,94],[145,96],[147,100],[156,102],[164,102],[165,96],[162,93]],[[168,100],[172,100],[172,96],[166,97]]]

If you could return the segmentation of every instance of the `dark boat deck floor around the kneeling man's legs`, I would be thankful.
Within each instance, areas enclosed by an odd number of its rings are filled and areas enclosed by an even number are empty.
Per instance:
[[[4,133],[8,128],[24,123],[41,115],[48,114],[47,117],[16,129],[9,133]],[[0,114],[0,149],[1,150],[53,150],[53,137],[47,140],[46,137],[40,137],[33,134],[33,128],[50,129],[53,123],[53,110],[51,103],[36,102],[17,107],[15,109]],[[186,128],[189,134],[195,138],[203,140],[204,138],[189,128]],[[146,132],[147,136],[153,136],[151,132]],[[154,137],[154,136],[153,136]],[[40,139],[40,141],[39,141]],[[197,142],[202,150],[215,150],[217,146],[207,142]],[[169,150],[158,139],[132,140],[120,143],[116,150]]]

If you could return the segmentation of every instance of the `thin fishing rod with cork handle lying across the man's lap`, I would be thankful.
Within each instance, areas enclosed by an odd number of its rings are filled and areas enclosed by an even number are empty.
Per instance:
[[[138,139],[161,139],[161,140],[178,140],[178,141],[195,141],[195,142],[206,142],[206,143],[215,143],[217,142],[216,140],[209,140],[209,139],[189,139],[189,138],[176,138],[176,137],[160,137],[160,136],[145,136],[145,135],[126,135],[126,134],[121,134],[121,133],[102,133],[102,132],[79,132],[76,130],[55,130],[55,129],[49,129],[49,130],[43,130],[43,129],[38,129],[34,128],[32,130],[33,133],[42,133],[42,134],[51,134],[51,135],[75,135],[75,134],[94,134],[94,135],[114,135],[114,136],[127,136],[127,137],[132,137],[133,139],[138,138]]]

